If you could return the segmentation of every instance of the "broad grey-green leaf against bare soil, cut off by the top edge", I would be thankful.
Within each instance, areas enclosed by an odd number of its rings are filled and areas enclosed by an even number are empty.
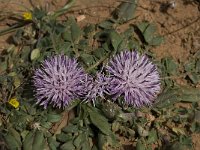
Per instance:
[[[119,5],[115,11],[115,16],[120,23],[127,22],[134,18],[136,6],[137,0],[127,0]]]

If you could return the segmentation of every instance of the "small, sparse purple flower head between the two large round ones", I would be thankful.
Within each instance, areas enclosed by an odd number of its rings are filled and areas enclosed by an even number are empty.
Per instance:
[[[97,97],[104,98],[104,93],[106,92],[106,86],[108,84],[108,79],[101,73],[97,73],[96,78],[93,78],[91,75],[87,75],[84,81],[85,91],[84,100],[86,102],[92,101],[95,104]]]

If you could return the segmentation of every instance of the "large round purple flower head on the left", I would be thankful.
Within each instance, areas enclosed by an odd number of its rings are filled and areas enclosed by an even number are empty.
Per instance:
[[[44,108],[51,103],[59,108],[69,105],[78,98],[78,93],[83,89],[80,83],[84,78],[85,73],[76,59],[64,55],[46,59],[33,77],[37,103]]]

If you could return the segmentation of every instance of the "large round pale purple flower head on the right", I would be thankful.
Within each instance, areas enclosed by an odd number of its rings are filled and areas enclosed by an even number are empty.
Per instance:
[[[110,76],[108,92],[125,103],[140,107],[150,105],[160,91],[160,77],[156,66],[146,55],[123,51],[106,66]]]

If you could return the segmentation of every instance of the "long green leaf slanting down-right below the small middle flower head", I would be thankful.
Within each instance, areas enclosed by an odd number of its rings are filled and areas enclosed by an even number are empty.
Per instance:
[[[108,120],[97,111],[94,107],[88,107],[88,112],[90,115],[91,122],[104,134],[111,134],[111,127]]]

